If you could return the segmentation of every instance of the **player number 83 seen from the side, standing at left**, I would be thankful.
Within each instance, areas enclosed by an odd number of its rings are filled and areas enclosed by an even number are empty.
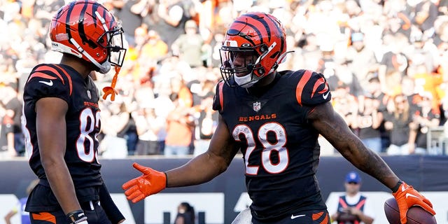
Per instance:
[[[82,0],[60,8],[49,33],[61,62],[35,66],[23,94],[27,155],[39,179],[25,210],[31,223],[122,223],[97,160],[99,92],[90,73],[123,65],[123,29],[104,6]]]

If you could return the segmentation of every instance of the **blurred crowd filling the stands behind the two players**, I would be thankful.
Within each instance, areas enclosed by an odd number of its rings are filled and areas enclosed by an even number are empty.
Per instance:
[[[279,70],[323,73],[336,111],[373,151],[445,154],[448,131],[441,141],[432,133],[448,126],[447,0],[100,2],[120,20],[128,48],[118,97],[99,105],[104,158],[207,150],[218,117],[211,104],[219,48],[227,25],[246,11],[283,22],[295,53]],[[64,3],[0,0],[0,158],[25,155],[22,87],[36,64],[59,62],[47,34]],[[92,73],[100,92],[112,77]]]

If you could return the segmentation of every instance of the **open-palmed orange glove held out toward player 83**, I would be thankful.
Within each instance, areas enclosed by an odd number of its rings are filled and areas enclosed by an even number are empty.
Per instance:
[[[137,203],[149,195],[159,193],[167,187],[167,175],[149,167],[139,165],[137,162],[132,167],[142,172],[143,175],[127,181],[122,188],[125,190],[127,200]]]

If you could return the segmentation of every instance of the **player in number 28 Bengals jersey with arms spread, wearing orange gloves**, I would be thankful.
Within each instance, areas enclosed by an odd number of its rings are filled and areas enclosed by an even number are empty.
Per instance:
[[[330,223],[316,181],[321,134],[349,162],[393,190],[402,223],[412,205],[434,214],[430,202],[365,148],[332,109],[321,73],[276,71],[287,53],[285,30],[274,16],[246,13],[232,22],[221,46],[223,81],[214,99],[220,116],[208,151],[167,172],[134,164],[143,175],[123,184],[128,200],[210,181],[241,151],[252,223]],[[247,219],[238,218],[235,223]]]

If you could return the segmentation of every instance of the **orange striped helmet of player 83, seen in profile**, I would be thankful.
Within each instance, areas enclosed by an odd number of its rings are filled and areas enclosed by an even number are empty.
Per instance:
[[[92,62],[101,73],[108,72],[111,65],[123,65],[123,28],[100,3],[67,3],[53,16],[49,29],[52,50]]]

